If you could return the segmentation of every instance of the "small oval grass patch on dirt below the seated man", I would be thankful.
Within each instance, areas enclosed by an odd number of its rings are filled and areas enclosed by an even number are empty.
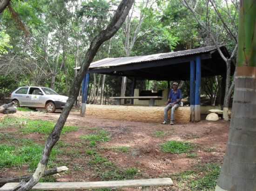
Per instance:
[[[160,145],[164,153],[189,153],[195,148],[195,145],[182,141],[167,141]]]

